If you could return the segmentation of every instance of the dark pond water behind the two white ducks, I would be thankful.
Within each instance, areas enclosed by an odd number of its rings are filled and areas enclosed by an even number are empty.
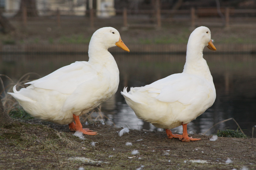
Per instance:
[[[132,54],[114,53],[119,66],[120,83],[118,92],[109,101],[102,104],[102,112],[110,118],[109,124],[132,129],[162,131],[150,123],[137,119],[133,110],[125,103],[120,91],[124,86],[136,87],[150,84],[174,73],[182,72],[185,54]],[[244,132],[252,136],[252,127],[256,125],[256,55],[205,53],[204,58],[211,70],[216,87],[216,101],[211,108],[188,124],[188,132],[204,133],[214,124],[234,118]],[[14,82],[28,72],[45,76],[54,70],[75,61],[88,60],[86,54],[80,55],[1,55],[0,74],[9,76]],[[10,81],[3,76],[4,86]],[[30,79],[39,78],[31,75]],[[237,129],[233,120],[219,123],[207,134],[218,129]],[[177,127],[173,132],[182,132]],[[254,134],[256,135],[256,134]]]

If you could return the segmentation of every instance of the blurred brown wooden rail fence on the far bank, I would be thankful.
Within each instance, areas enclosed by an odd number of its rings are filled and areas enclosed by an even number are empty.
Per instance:
[[[8,13],[8,11],[5,11]],[[45,12],[45,11],[44,11]],[[56,11],[48,11],[50,14],[49,16],[44,17],[55,17],[56,22],[58,26],[61,26],[61,21],[64,18],[64,16],[74,16],[70,11],[64,11],[64,10],[56,10]],[[90,20],[90,26],[93,28],[95,25],[95,22],[97,22],[96,13],[101,12],[113,12],[113,11],[96,11],[94,9],[87,10],[87,11],[78,11],[80,13],[84,13],[85,16],[89,17]],[[232,26],[232,23],[230,23],[231,18],[236,18],[238,15],[245,18],[245,15],[251,15],[253,18],[253,21],[256,21],[256,9],[234,9],[234,8],[191,8],[190,10],[160,10],[160,8],[156,8],[154,10],[130,10],[130,9],[123,9],[123,10],[115,10],[116,16],[115,17],[122,17],[123,20],[123,26],[124,28],[130,28],[130,27],[154,27],[154,28],[161,28],[163,21],[176,21],[176,22],[190,22],[190,26],[195,27],[197,25],[197,22],[201,20],[202,18],[218,18],[221,20],[218,20],[219,26],[225,26],[230,27]],[[143,17],[144,16],[144,17]],[[147,17],[145,17],[147,16]],[[183,17],[178,17],[183,16]],[[27,25],[28,19],[30,17],[27,16],[27,9],[26,7],[22,8],[22,16],[21,16],[21,22],[23,26]],[[241,17],[239,17],[241,18]],[[148,24],[145,23],[139,23],[134,24],[133,20],[147,20]],[[253,22],[252,22],[253,25]]]

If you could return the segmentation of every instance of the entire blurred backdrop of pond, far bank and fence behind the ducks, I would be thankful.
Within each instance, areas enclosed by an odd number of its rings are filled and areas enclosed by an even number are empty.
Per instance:
[[[26,79],[37,79],[75,61],[88,61],[94,31],[119,30],[130,53],[113,47],[120,71],[118,92],[102,104],[106,123],[158,130],[137,119],[120,94],[182,72],[186,43],[207,26],[217,51],[204,49],[216,86],[216,101],[188,125],[204,133],[235,119],[252,136],[256,125],[256,0],[0,0],[0,94]],[[25,76],[24,76],[25,75]],[[157,114],[157,113],[156,113]],[[233,120],[207,131],[238,129]],[[177,127],[174,132],[182,132]],[[256,133],[255,133],[256,135]]]

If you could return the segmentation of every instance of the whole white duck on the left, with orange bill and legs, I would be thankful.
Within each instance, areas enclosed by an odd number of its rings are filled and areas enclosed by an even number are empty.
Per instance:
[[[11,94],[26,112],[35,118],[69,124],[71,131],[96,135],[83,129],[79,116],[111,98],[119,85],[119,70],[108,48],[118,46],[129,51],[119,32],[112,27],[101,28],[89,43],[89,60],[77,61],[44,76],[20,91]],[[73,122],[75,120],[75,123]]]

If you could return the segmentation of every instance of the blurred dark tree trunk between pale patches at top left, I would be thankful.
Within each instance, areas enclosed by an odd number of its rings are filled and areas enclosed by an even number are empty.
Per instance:
[[[16,17],[22,17],[22,10],[26,8],[26,16],[27,17],[38,17],[37,9],[36,9],[36,0],[21,0],[20,8],[18,13],[15,15]]]

